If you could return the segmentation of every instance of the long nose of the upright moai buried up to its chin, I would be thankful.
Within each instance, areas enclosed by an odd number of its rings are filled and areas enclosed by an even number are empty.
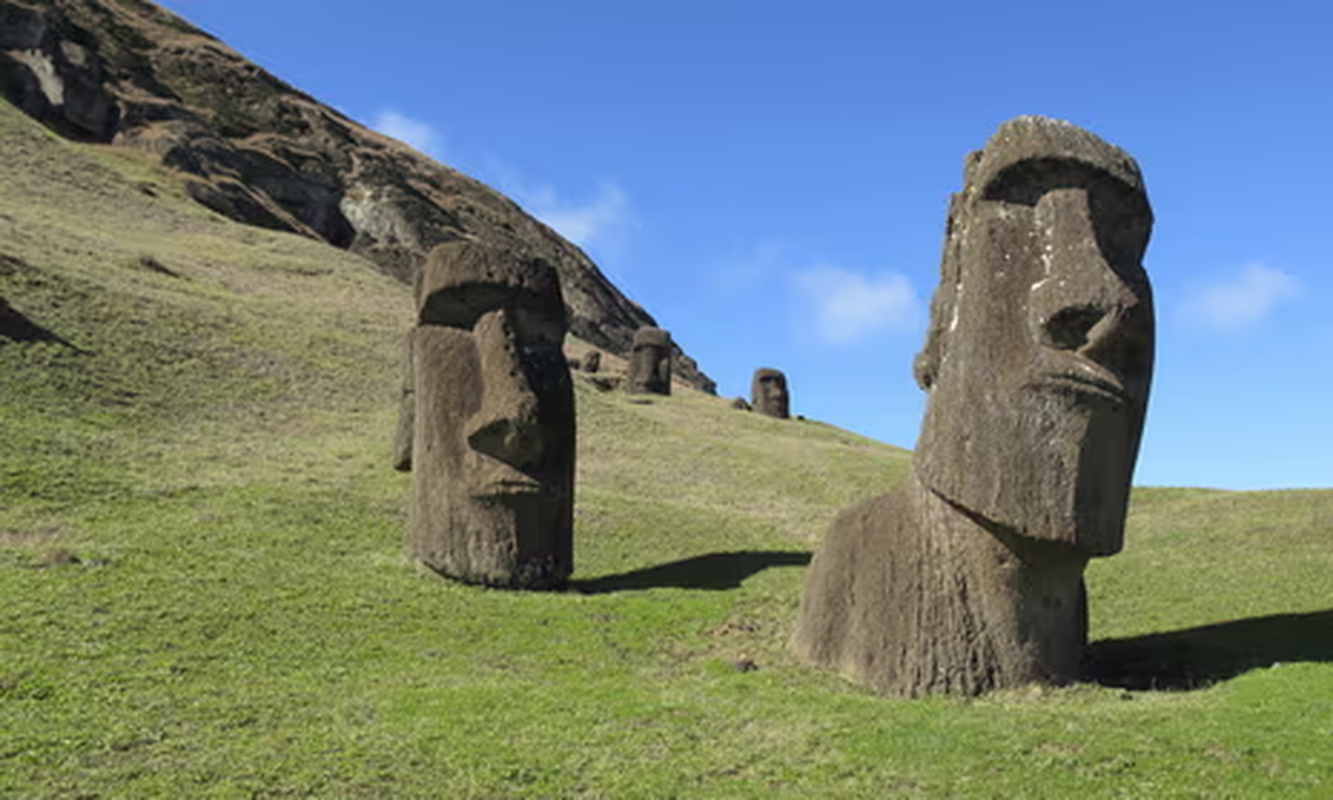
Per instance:
[[[468,423],[468,444],[512,465],[543,452],[537,395],[524,369],[517,337],[504,311],[484,315],[473,327],[481,360],[481,407]]]

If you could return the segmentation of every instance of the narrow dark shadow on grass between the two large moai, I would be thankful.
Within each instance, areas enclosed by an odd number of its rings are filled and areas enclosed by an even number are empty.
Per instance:
[[[810,553],[792,551],[741,551],[734,553],[708,553],[649,567],[605,575],[588,580],[572,580],[569,588],[584,595],[628,592],[673,587],[680,589],[734,589],[741,581],[769,567],[804,567]]]

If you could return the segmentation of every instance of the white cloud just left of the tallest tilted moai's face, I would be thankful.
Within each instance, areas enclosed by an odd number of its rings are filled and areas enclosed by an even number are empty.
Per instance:
[[[820,264],[793,275],[792,285],[813,315],[814,336],[825,344],[854,344],[917,320],[916,292],[896,272],[866,276]]]

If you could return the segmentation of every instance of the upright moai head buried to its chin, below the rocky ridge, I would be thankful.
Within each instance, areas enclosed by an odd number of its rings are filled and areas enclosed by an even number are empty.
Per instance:
[[[573,569],[575,399],[555,268],[475,241],[428,256],[412,332],[408,551],[497,587]]]

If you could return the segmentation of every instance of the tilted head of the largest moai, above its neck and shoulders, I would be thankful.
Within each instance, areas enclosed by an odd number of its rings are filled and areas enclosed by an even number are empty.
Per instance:
[[[914,465],[968,512],[1089,556],[1118,552],[1153,363],[1133,160],[1020,117],[969,156],[917,380]]]

